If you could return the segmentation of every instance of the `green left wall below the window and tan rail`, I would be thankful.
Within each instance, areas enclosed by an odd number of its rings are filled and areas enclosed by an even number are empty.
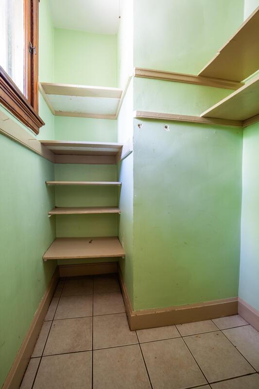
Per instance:
[[[0,387],[56,266],[42,255],[55,237],[48,218],[53,164],[0,135]]]

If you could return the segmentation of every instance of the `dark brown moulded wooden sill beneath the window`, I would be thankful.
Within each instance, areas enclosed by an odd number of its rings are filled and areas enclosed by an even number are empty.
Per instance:
[[[0,103],[35,134],[38,134],[39,128],[45,124],[1,66]]]

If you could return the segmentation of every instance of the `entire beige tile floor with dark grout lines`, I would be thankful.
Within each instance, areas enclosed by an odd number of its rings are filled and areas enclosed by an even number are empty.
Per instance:
[[[259,389],[240,316],[130,331],[114,274],[60,280],[21,389]]]

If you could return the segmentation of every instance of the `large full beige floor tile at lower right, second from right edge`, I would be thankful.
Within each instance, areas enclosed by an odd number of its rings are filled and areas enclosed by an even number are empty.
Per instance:
[[[184,340],[208,382],[254,372],[249,363],[220,331],[186,336]]]

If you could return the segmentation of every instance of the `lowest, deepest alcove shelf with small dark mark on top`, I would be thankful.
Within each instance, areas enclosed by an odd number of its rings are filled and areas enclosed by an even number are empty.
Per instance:
[[[124,257],[117,236],[102,238],[56,238],[43,260]]]

